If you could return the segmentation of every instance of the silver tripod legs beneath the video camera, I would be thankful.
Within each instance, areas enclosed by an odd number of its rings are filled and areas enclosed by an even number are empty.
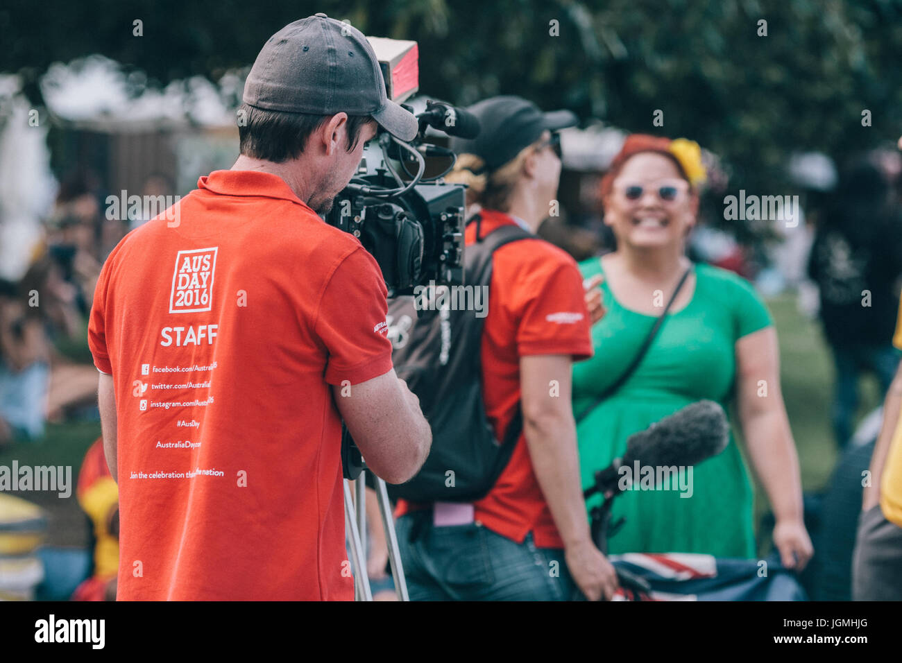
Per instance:
[[[373,601],[370,590],[370,576],[366,572],[366,466],[354,440],[345,434],[342,438],[342,462],[345,466],[345,531],[351,548],[351,566],[354,570],[354,600]],[[376,501],[382,514],[382,527],[385,529],[385,544],[389,549],[391,577],[394,580],[395,594],[399,601],[410,601],[407,594],[407,581],[404,579],[404,568],[401,566],[398,536],[394,529],[394,518],[391,515],[391,502],[385,482],[373,474]],[[354,497],[351,495],[349,481],[354,481]]]

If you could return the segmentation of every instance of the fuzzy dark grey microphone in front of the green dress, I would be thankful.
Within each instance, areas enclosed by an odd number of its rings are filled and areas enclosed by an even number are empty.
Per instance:
[[[619,470],[623,465],[696,465],[717,456],[728,441],[729,426],[723,408],[714,401],[692,403],[649,428],[633,433],[623,457],[615,458],[611,465],[595,473],[595,484],[584,491],[584,498],[594,493],[606,496],[620,493]]]

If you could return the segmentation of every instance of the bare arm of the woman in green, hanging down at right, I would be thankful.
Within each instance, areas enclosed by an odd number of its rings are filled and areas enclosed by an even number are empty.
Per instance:
[[[765,327],[736,342],[736,387],[751,465],[777,519],[774,545],[783,565],[801,570],[814,554],[805,530],[796,444],[780,391],[777,331]]]

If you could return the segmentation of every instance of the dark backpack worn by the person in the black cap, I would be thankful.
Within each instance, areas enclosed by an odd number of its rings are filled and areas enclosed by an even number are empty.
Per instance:
[[[484,286],[482,292],[488,293],[492,253],[535,235],[520,226],[501,226],[480,237],[480,222],[478,216],[471,220],[477,224],[477,240],[465,249],[464,282],[474,286],[473,292]],[[454,299],[437,310],[418,310],[415,296],[389,300],[391,358],[419,398],[432,428],[432,449],[419,474],[408,483],[390,485],[389,494],[411,502],[475,502],[492,490],[511,459],[522,429],[520,404],[504,440],[495,439],[483,401],[485,318],[475,310],[454,310]],[[483,303],[487,312],[487,296]]]

